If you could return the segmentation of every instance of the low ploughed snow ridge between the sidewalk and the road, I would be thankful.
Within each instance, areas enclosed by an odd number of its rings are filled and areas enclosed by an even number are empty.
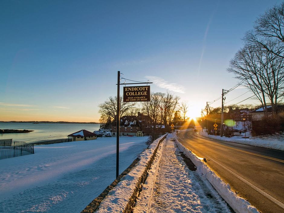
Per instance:
[[[230,185],[226,184],[219,178],[208,166],[206,166],[201,160],[198,159],[190,150],[184,147],[176,138],[176,144],[183,153],[189,157],[189,159],[197,167],[197,171],[204,175],[211,185],[217,190],[221,197],[234,209],[237,213],[259,213],[257,208],[252,206],[248,201],[236,195],[231,191]]]

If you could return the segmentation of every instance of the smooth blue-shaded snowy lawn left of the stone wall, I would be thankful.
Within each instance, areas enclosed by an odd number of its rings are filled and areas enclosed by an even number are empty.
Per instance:
[[[147,137],[120,137],[121,173]],[[116,138],[35,146],[1,160],[0,212],[80,212],[115,179]]]

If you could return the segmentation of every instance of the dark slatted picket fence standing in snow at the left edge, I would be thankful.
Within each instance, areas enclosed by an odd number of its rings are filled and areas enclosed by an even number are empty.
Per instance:
[[[0,160],[34,154],[34,144],[0,147]]]

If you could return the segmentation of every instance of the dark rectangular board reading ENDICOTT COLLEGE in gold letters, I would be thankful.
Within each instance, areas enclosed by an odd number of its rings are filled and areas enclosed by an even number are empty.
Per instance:
[[[150,101],[150,86],[123,87],[123,102]]]

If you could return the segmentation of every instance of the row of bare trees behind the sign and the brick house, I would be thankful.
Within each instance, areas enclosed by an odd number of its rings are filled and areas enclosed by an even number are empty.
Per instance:
[[[152,125],[168,126],[173,121],[185,121],[188,111],[188,102],[179,102],[180,97],[170,92],[151,92],[149,102],[123,102],[120,96],[120,115],[137,115],[138,111],[151,118]],[[105,102],[98,105],[101,115],[100,122],[109,128],[112,121],[116,120],[117,97],[110,96]]]

